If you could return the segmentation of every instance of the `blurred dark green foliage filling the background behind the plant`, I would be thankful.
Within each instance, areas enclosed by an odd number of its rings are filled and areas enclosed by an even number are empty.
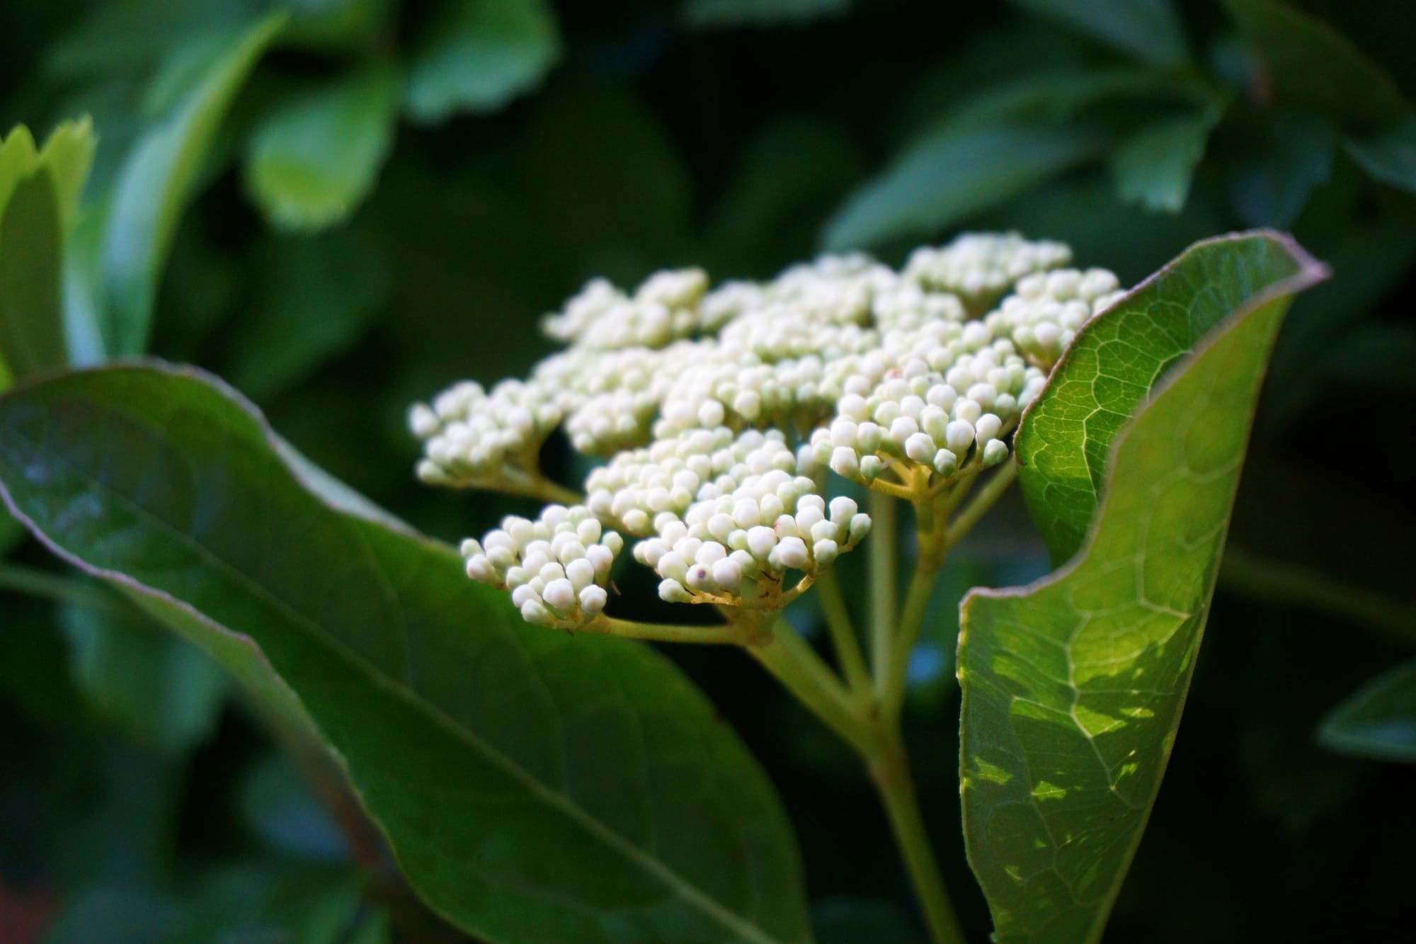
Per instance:
[[[1412,768],[1352,757],[1383,750],[1337,729],[1374,703],[1416,714],[1392,693],[1416,675],[1315,730],[1416,641],[1413,31],[1405,0],[50,0],[0,11],[0,129],[42,142],[88,115],[98,133],[64,221],[74,360],[212,370],[445,539],[508,502],[419,488],[406,404],[525,373],[547,352],[537,318],[592,275],[899,262],[959,228],[1018,228],[1130,283],[1197,238],[1291,230],[1335,278],[1276,353],[1107,940],[1359,940],[1405,914]],[[3,515],[0,941],[457,940],[323,758]],[[954,601],[1046,568],[1021,505],[995,517],[912,672],[922,792],[978,940]],[[673,655],[782,790],[821,940],[910,940],[844,750],[738,653]]]

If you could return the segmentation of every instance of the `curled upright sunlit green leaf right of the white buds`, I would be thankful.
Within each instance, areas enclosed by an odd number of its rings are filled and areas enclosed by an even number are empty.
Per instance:
[[[961,605],[964,838],[1000,943],[1102,934],[1180,724],[1267,352],[1323,275],[1281,237],[1199,244],[1085,327],[1024,420],[1087,500],[1092,439],[1116,446],[1078,556]]]

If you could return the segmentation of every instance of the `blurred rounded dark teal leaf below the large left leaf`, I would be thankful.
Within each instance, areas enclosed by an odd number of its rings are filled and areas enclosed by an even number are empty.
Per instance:
[[[212,733],[227,676],[201,649],[136,612],[64,607],[59,625],[76,686],[129,737],[176,754]]]

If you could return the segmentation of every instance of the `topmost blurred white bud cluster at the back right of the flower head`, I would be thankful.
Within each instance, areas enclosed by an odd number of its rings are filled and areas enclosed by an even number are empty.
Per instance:
[[[966,232],[944,247],[920,247],[905,264],[905,278],[926,288],[991,303],[1014,282],[1072,261],[1065,242],[1028,241],[1017,232]]]

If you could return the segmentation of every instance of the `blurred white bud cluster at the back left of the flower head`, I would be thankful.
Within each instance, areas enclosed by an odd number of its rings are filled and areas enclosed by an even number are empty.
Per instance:
[[[633,296],[593,279],[541,326],[555,340],[585,347],[663,347],[704,327],[700,302],[707,291],[702,269],[656,272]]]

